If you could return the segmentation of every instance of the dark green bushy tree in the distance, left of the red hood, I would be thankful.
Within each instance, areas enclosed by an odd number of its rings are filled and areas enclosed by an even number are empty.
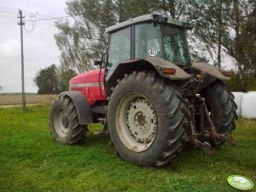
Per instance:
[[[37,72],[34,82],[38,87],[38,94],[59,93],[56,71],[57,67],[53,64]]]

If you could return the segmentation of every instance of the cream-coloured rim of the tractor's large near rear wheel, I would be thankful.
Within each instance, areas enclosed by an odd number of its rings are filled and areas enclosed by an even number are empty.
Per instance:
[[[142,93],[128,93],[117,106],[119,138],[129,150],[147,150],[156,138],[157,118],[151,101]]]

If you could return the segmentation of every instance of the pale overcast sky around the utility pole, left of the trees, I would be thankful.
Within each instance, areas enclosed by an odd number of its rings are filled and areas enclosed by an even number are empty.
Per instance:
[[[25,20],[31,13],[37,19],[65,16],[65,0],[1,0],[0,1],[0,85],[3,92],[21,92],[20,25],[18,9],[24,10]],[[6,13],[12,12],[12,13]],[[56,20],[55,20],[56,21]],[[31,29],[31,22],[25,25]],[[37,71],[49,65],[59,65],[60,51],[54,34],[54,20],[37,21],[34,31],[24,31],[25,90],[37,93],[33,82]]]

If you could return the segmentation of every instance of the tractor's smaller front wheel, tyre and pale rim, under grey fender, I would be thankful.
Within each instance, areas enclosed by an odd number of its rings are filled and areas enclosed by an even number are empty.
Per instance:
[[[49,127],[54,141],[60,144],[77,144],[85,137],[87,131],[87,127],[79,124],[75,104],[64,95],[52,104]]]

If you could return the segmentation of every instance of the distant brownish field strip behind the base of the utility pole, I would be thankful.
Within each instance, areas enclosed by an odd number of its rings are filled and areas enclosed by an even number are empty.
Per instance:
[[[48,104],[56,95],[54,94],[26,94],[26,104]],[[0,105],[21,104],[21,94],[0,94]]]

